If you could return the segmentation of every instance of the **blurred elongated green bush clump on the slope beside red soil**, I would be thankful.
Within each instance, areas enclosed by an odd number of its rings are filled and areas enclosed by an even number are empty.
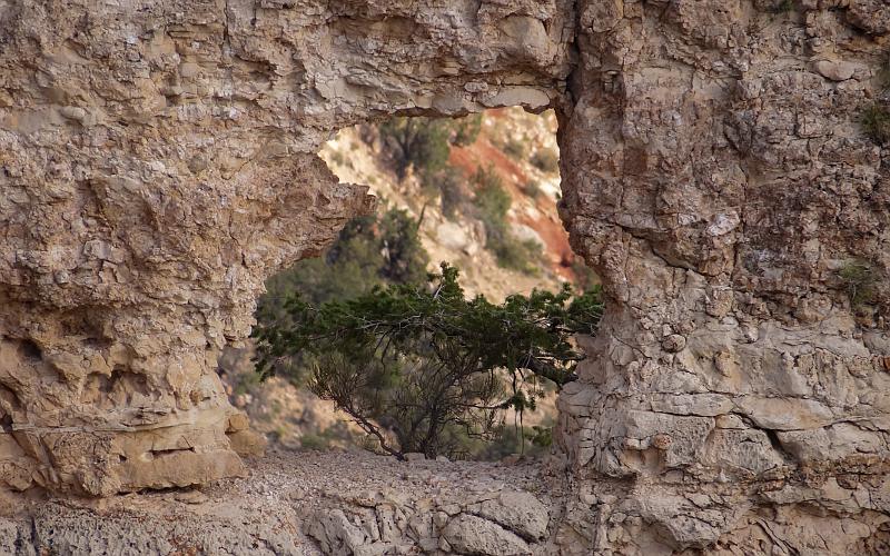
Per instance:
[[[541,246],[535,241],[520,241],[511,232],[507,212],[513,200],[501,178],[493,168],[479,167],[473,182],[476,186],[476,212],[485,225],[485,247],[494,254],[501,267],[535,274],[534,262],[541,258]]]

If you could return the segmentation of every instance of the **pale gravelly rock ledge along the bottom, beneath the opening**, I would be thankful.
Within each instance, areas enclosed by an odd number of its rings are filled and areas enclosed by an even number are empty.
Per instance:
[[[546,465],[271,451],[204,489],[9,507],[0,554],[546,554]],[[27,515],[27,517],[24,517]]]

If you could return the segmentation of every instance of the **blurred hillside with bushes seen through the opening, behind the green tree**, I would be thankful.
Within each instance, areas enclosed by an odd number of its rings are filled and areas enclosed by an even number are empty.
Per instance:
[[[350,221],[319,257],[300,260],[267,280],[267,292],[258,301],[258,327],[291,319],[286,305],[294,292],[318,307],[374,287],[425,284],[428,272],[442,272],[442,262],[458,269],[466,298],[482,295],[495,306],[513,294],[558,294],[564,284],[575,296],[592,290],[597,280],[572,252],[556,210],[561,179],[555,133],[553,111],[532,115],[520,108],[458,119],[393,117],[340,130],[320,156],[340,182],[368,186],[377,206]],[[571,342],[576,348],[574,339]],[[396,447],[390,453],[404,455],[399,445],[414,438],[404,430],[412,419],[370,407],[383,398],[355,400],[362,406],[353,408],[355,413],[374,415],[375,428],[383,431],[369,434],[355,414],[337,410],[334,401],[316,395],[318,360],[279,359],[275,376],[263,381],[254,351],[251,346],[229,349],[220,373],[234,405],[248,413],[273,445],[386,453],[388,444]],[[433,388],[429,377],[424,380],[424,388]],[[434,431],[444,438],[441,443],[417,439],[412,450],[488,460],[550,450],[555,383],[536,376],[517,401],[510,374],[498,371],[484,384],[476,380],[461,387],[464,396],[476,396],[475,404],[512,405],[472,419],[456,418]],[[388,391],[393,384],[375,387]],[[323,397],[336,397],[326,394]]]

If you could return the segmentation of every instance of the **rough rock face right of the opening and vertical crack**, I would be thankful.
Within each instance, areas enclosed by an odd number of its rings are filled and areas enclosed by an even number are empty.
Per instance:
[[[886,552],[890,179],[858,119],[890,4],[577,10],[563,215],[610,304],[560,404],[565,538]]]

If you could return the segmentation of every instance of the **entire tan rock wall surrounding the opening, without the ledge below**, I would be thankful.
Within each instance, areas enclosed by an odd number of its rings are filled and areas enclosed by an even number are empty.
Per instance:
[[[216,354],[370,202],[320,142],[555,106],[609,308],[554,546],[886,550],[890,181],[859,115],[889,34],[880,0],[0,4],[0,480],[239,473]]]

